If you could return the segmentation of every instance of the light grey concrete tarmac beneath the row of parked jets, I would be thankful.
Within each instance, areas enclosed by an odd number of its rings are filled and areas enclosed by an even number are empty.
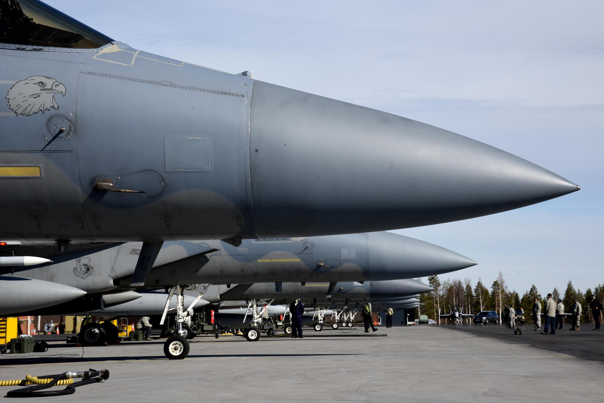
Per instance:
[[[601,362],[525,343],[524,335],[503,326],[380,326],[374,333],[388,337],[351,337],[362,328],[324,332],[333,336],[253,342],[196,337],[189,357],[175,361],[164,357],[162,340],[56,347],[17,360],[18,355],[5,354],[0,379],[89,368],[111,372],[108,381],[80,387],[74,395],[34,401],[602,401]],[[604,349],[604,343],[598,345]],[[73,355],[34,358],[56,354]],[[11,389],[2,387],[0,393]]]

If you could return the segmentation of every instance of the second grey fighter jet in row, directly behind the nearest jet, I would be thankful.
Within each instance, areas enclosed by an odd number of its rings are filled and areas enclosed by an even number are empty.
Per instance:
[[[100,294],[141,288],[130,284],[142,243],[101,244],[94,249],[89,249],[90,246],[77,244],[73,247],[77,250],[73,252],[57,252],[50,243],[13,242],[0,246],[0,256],[45,256],[53,262],[0,267],[0,273],[52,281],[82,290],[83,294],[88,293],[77,301],[82,310],[100,309]],[[313,297],[327,297],[329,293],[346,293],[345,290],[350,288],[348,285],[336,287],[339,281],[429,276],[474,264],[471,259],[451,250],[390,232],[244,240],[240,247],[217,240],[170,241],[162,246],[146,283],[152,287],[173,287],[271,282],[273,292],[279,294],[281,282],[326,281],[322,295],[313,294]],[[43,293],[45,285],[34,287],[32,283],[23,283],[18,290],[16,287],[21,283],[12,282],[5,287],[24,297],[46,297]],[[0,294],[3,287],[0,282]],[[228,290],[228,287],[224,288]],[[57,303],[51,296],[48,298],[47,306]],[[18,312],[24,313],[25,309]]]

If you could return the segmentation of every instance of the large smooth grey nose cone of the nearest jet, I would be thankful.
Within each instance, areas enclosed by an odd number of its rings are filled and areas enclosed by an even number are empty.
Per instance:
[[[254,82],[249,125],[257,236],[445,223],[579,189],[447,130],[262,81]]]

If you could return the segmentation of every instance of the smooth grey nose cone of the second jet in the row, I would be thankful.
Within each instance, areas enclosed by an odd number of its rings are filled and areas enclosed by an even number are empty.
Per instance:
[[[369,233],[368,255],[373,280],[433,276],[476,264],[452,250],[392,232]]]

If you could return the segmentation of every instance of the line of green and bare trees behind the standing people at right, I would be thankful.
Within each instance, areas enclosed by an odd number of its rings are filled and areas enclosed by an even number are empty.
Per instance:
[[[592,322],[593,318],[589,312],[591,296],[596,296],[600,302],[604,302],[604,284],[598,284],[593,290],[588,288],[583,292],[574,288],[572,281],[568,281],[564,293],[560,293],[560,290],[554,288],[541,294],[533,284],[520,296],[518,291],[510,290],[507,287],[506,279],[501,271],[490,287],[487,287],[481,278],[478,278],[476,285],[472,285],[471,279],[467,277],[463,281],[461,279],[442,281],[439,276],[430,276],[428,284],[434,288],[434,291],[420,295],[420,304],[423,304],[420,305],[420,314],[428,315],[430,319],[437,322],[439,322],[439,311],[440,314],[449,314],[455,307],[460,309],[461,313],[477,314],[480,311],[495,311],[501,316],[501,311],[506,303],[511,303],[516,309],[524,308],[524,313],[530,315],[533,311],[535,297],[543,304],[549,293],[553,295],[556,302],[558,299],[562,299],[565,312],[570,312],[575,298],[579,300],[583,307],[582,322]]]

